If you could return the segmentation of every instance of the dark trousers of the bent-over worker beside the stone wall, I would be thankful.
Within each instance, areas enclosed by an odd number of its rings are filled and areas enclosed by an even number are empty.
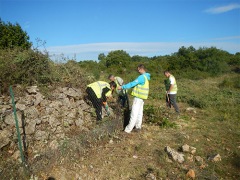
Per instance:
[[[102,120],[102,99],[98,98],[90,87],[87,87],[86,92],[88,94],[88,99],[92,102],[92,105],[95,108],[97,120]]]

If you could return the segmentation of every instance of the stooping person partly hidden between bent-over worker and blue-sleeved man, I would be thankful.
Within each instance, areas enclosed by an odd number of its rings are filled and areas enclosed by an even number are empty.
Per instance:
[[[112,74],[110,74],[108,76],[108,79],[110,81],[113,81],[113,82],[115,82],[117,84],[116,92],[118,94],[118,101],[120,102],[122,107],[125,107],[125,103],[126,103],[126,100],[127,100],[126,90],[125,91],[122,90],[122,89],[118,90],[118,87],[122,86],[124,84],[123,79],[118,77],[118,76],[114,76]]]

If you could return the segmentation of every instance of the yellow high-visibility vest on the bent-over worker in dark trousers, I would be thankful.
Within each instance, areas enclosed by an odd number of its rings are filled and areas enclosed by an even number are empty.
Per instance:
[[[91,83],[91,84],[87,85],[87,87],[92,88],[92,90],[95,92],[97,98],[102,97],[102,91],[105,87],[111,89],[109,83],[104,82],[104,81],[97,81],[97,82]],[[109,96],[110,94],[111,94],[111,90],[109,90],[106,93],[106,96]]]

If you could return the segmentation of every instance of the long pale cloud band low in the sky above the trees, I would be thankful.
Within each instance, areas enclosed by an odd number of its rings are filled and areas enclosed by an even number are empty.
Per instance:
[[[98,55],[104,53],[107,55],[110,51],[124,50],[133,55],[140,56],[160,56],[171,55],[178,51],[182,46],[193,46],[198,49],[200,47],[216,47],[218,49],[226,50],[230,53],[240,51],[240,43],[230,42],[114,42],[114,43],[92,43],[92,44],[79,44],[70,46],[54,46],[47,47],[47,51],[52,57],[58,57],[63,54],[65,57],[76,57],[78,61],[81,60],[98,60]]]

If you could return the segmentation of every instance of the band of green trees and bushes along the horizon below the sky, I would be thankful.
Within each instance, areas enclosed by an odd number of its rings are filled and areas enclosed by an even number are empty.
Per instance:
[[[153,75],[170,70],[179,77],[190,79],[240,72],[240,52],[230,54],[216,47],[195,49],[193,46],[182,46],[178,52],[171,55],[154,57],[130,56],[126,51],[115,50],[107,55],[100,53],[98,61],[76,62],[74,59],[65,58],[65,62],[57,63],[51,60],[48,52],[33,47],[27,32],[23,31],[18,23],[5,23],[0,19],[0,37],[2,92],[14,84],[76,84],[79,81],[76,78],[79,77],[85,77],[87,83],[89,76],[97,80],[102,71],[127,73],[131,78],[132,70],[139,63],[146,64]]]

